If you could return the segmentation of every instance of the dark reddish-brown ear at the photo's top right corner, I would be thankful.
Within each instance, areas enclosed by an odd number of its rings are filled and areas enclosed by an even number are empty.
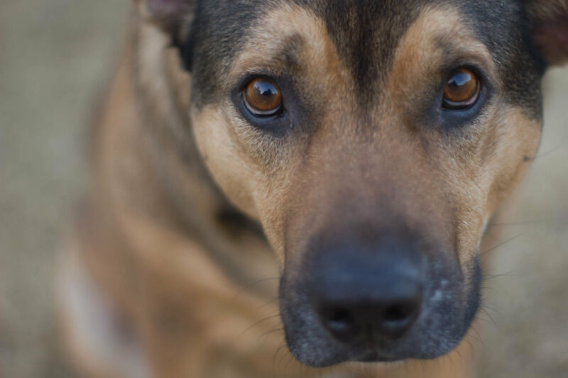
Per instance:
[[[528,0],[532,35],[551,65],[568,62],[568,0]]]

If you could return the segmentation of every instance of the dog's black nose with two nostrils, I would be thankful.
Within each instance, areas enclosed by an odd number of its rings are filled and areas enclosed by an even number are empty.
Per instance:
[[[343,343],[402,337],[422,304],[420,256],[390,250],[340,248],[312,266],[310,300],[322,326]]]

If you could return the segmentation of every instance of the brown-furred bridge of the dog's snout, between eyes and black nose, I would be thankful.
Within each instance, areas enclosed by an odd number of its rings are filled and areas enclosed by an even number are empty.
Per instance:
[[[359,118],[353,122],[364,121]],[[433,166],[420,138],[388,121],[376,124],[376,132],[358,130],[341,117],[329,122],[335,126],[322,125],[312,135],[292,177],[286,220],[290,250],[304,250],[297,243],[309,242],[320,230],[373,232],[391,223],[451,243],[451,228],[439,225],[452,218],[452,193],[445,192],[447,177]]]

